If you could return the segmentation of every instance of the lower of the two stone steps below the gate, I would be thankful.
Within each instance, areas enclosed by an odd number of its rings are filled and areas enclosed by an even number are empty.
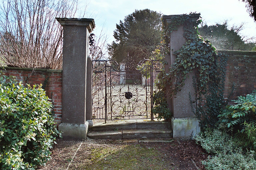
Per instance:
[[[91,139],[132,139],[132,138],[170,138],[172,130],[166,129],[124,129],[119,131],[90,131]]]

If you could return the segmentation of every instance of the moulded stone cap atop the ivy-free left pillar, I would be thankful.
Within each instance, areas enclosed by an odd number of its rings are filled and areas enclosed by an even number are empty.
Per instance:
[[[56,20],[62,26],[86,26],[89,32],[95,28],[95,22],[92,18],[56,18]]]

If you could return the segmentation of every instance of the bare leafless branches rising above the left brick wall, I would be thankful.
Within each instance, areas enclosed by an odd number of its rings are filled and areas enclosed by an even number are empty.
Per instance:
[[[62,68],[62,27],[74,18],[77,0],[2,0],[0,60],[7,66]]]

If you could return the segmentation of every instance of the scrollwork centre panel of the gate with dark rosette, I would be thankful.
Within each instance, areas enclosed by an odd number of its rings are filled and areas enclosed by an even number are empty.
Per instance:
[[[122,64],[120,70],[111,72],[111,113],[113,118],[145,119],[148,118],[150,88],[143,80],[140,70]]]

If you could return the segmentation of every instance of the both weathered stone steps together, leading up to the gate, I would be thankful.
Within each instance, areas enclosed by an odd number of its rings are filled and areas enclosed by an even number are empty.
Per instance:
[[[170,123],[147,120],[119,120],[114,123],[97,123],[89,127],[88,137],[93,135],[93,139],[170,138],[172,137]],[[122,131],[120,131],[121,129]],[[122,132],[121,137],[115,136],[116,131]],[[114,137],[111,138],[110,135],[114,135]]]

